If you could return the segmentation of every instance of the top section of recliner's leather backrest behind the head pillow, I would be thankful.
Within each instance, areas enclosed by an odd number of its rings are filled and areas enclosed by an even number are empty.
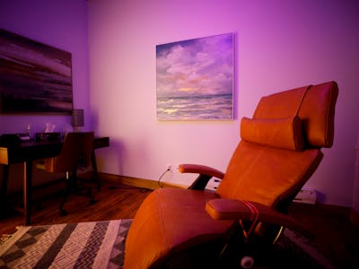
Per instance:
[[[305,93],[306,90],[308,91]],[[331,147],[334,139],[337,93],[337,83],[326,82],[271,94],[259,100],[253,118],[298,115],[302,119],[304,139],[308,145]]]

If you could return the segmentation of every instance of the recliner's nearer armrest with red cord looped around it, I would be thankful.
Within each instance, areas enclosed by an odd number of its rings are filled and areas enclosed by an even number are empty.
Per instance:
[[[254,206],[254,208],[253,208]],[[257,212],[254,213],[253,211]],[[213,199],[206,203],[206,212],[215,220],[258,221],[285,226],[302,232],[310,239],[313,233],[291,216],[279,213],[275,209],[255,202],[235,199]]]

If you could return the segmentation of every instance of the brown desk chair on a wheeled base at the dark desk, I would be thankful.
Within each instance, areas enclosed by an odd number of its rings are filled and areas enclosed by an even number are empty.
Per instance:
[[[37,169],[66,174],[66,192],[60,204],[60,213],[62,215],[66,215],[63,207],[68,195],[71,193],[83,195],[77,186],[77,169],[86,168],[91,164],[92,145],[93,132],[68,133],[57,157],[36,163]],[[86,189],[85,195],[91,197],[91,204],[95,203],[90,188]]]

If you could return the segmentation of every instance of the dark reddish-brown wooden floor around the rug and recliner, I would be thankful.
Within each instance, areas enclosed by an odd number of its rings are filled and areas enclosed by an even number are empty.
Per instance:
[[[66,202],[66,216],[59,214],[60,197],[53,195],[34,206],[31,225],[132,219],[150,192],[104,182],[101,192],[95,193],[96,204],[89,205],[89,199],[82,196],[70,196]],[[291,207],[290,214],[316,234],[316,245],[337,268],[359,268],[359,229],[350,221],[340,214],[307,210],[298,204]],[[0,223],[0,235],[13,233],[16,226],[23,225],[22,213],[13,212]]]

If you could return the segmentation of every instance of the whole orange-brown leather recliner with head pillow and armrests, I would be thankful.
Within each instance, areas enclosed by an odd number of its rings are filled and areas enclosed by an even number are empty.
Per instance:
[[[318,168],[320,148],[333,143],[337,92],[326,82],[263,97],[253,117],[241,119],[225,173],[180,165],[199,177],[189,189],[147,196],[128,231],[125,268],[238,268],[228,248],[266,241],[282,225],[301,230],[284,213]],[[216,192],[199,190],[212,177],[222,179]]]

